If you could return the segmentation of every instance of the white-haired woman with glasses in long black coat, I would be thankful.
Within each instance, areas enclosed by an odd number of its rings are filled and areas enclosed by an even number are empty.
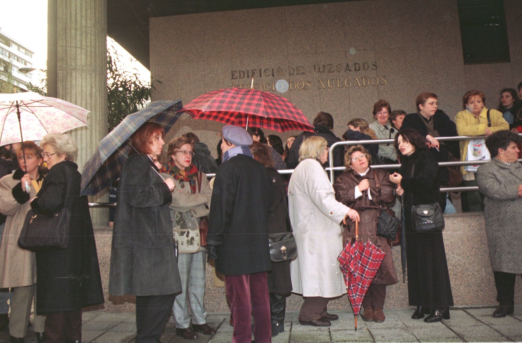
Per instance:
[[[40,147],[49,173],[31,208],[53,215],[66,207],[70,227],[67,248],[36,253],[36,308],[46,315],[48,343],[81,341],[81,309],[103,303],[103,292],[87,197],[80,197],[81,175],[73,162],[78,148],[63,133],[47,134]]]

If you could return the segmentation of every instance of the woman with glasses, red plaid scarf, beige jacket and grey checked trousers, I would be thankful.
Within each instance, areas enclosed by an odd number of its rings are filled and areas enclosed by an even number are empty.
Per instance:
[[[197,339],[198,332],[216,334],[216,329],[207,324],[203,302],[207,251],[201,247],[199,236],[199,222],[201,217],[208,216],[212,190],[207,176],[192,164],[194,143],[190,139],[174,138],[169,143],[168,154],[169,163],[161,171],[175,185],[169,207],[172,227],[178,233],[175,235],[180,249],[177,267],[181,277],[181,294],[176,296],[172,311],[176,333],[185,339]]]

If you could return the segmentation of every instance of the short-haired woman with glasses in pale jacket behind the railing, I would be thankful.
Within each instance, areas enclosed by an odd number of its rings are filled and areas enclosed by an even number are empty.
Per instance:
[[[397,130],[388,122],[391,113],[392,107],[386,100],[379,100],[373,104],[373,116],[375,117],[375,121],[369,126],[375,131],[377,139],[395,138]],[[386,164],[397,163],[397,153],[395,152],[393,143],[379,145],[377,156],[381,157]]]

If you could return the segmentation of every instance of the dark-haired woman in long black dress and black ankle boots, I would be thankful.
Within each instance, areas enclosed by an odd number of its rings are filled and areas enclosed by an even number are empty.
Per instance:
[[[449,319],[453,306],[442,229],[420,233],[411,224],[412,205],[438,201],[437,161],[420,133],[411,129],[397,133],[395,149],[402,165],[390,180],[397,185],[397,194],[404,195],[408,298],[410,305],[417,306],[411,317],[420,319],[431,313],[424,322],[440,322]]]

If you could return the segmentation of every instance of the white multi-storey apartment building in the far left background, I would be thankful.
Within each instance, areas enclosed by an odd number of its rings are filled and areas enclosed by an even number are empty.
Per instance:
[[[33,81],[32,52],[27,46],[2,32],[0,28],[0,78],[18,91],[27,91]]]

